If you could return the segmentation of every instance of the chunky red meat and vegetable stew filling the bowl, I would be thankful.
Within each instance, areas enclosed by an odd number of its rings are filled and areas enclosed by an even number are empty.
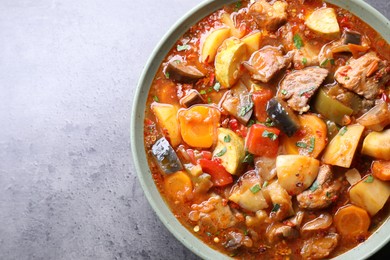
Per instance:
[[[389,216],[390,45],[320,0],[193,25],[150,89],[144,143],[177,219],[238,259],[321,259]]]

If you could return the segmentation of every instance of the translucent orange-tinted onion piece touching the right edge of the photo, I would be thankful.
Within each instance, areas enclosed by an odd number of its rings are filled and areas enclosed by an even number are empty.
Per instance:
[[[390,124],[389,105],[381,101],[356,121],[370,130],[380,132]]]

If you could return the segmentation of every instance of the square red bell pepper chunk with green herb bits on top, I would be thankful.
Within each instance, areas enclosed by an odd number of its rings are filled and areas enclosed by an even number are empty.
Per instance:
[[[257,156],[275,157],[279,148],[279,133],[277,128],[254,124],[249,128],[245,148]]]

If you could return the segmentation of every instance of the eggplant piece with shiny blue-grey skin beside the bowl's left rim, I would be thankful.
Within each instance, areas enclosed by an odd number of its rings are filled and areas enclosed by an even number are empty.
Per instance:
[[[179,157],[165,137],[160,138],[152,146],[152,154],[157,161],[160,169],[166,173],[175,173],[183,170]]]

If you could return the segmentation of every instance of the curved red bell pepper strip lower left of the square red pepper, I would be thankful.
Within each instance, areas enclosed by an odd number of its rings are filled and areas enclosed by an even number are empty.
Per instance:
[[[233,182],[232,175],[217,161],[199,159],[198,163],[203,172],[211,175],[211,181],[215,186],[225,186]]]

